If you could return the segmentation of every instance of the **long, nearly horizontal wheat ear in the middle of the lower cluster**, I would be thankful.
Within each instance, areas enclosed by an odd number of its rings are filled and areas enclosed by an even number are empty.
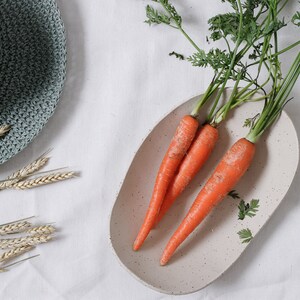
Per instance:
[[[31,235],[22,238],[0,239],[0,249],[12,249],[22,246],[35,246],[42,243],[47,243],[52,239],[51,235]]]

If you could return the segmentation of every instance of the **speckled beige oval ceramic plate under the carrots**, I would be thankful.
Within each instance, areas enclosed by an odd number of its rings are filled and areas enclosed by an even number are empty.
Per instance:
[[[283,200],[298,165],[296,131],[283,112],[272,131],[257,144],[254,162],[235,188],[246,202],[260,200],[257,215],[238,220],[239,200],[228,196],[177,249],[169,264],[159,265],[168,239],[201,185],[229,146],[245,136],[248,128],[243,127],[244,120],[255,116],[262,105],[257,102],[245,104],[220,127],[220,139],[205,167],[152,230],[142,248],[134,252],[132,244],[143,222],[160,162],[180,118],[191,111],[197,99],[195,97],[172,111],[145,139],[133,159],[111,214],[111,243],[121,263],[147,286],[169,294],[195,292],[222,275],[248,245],[241,242],[237,232],[249,228],[253,236],[258,233]]]

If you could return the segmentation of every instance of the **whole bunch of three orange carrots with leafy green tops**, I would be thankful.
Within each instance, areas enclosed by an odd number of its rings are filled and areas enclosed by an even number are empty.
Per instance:
[[[196,50],[188,60],[193,66],[211,67],[214,74],[194,110],[190,115],[183,116],[176,129],[158,170],[144,222],[133,244],[134,250],[142,246],[149,232],[209,159],[218,141],[218,127],[226,120],[228,113],[246,102],[264,101],[261,113],[248,122],[250,130],[247,136],[239,139],[221,158],[170,238],[160,260],[160,264],[165,265],[250,167],[256,142],[278,120],[300,74],[300,53],[285,77],[279,57],[297,47],[300,41],[279,50],[278,32],[287,25],[280,13],[287,1],[222,0],[230,4],[232,12],[217,15],[208,22],[210,39],[224,40],[226,48],[215,48],[209,52],[200,49],[186,33],[181,16],[168,0],[154,2],[160,4],[162,11],[148,5],[146,22],[150,25],[165,24],[183,33]],[[296,12],[290,23],[299,26],[299,21],[300,13]],[[262,76],[263,68],[267,76]],[[231,82],[234,82],[231,95],[225,103],[221,103],[223,92]],[[257,93],[261,96],[254,98]],[[199,124],[197,116],[209,101],[212,103],[206,121]]]

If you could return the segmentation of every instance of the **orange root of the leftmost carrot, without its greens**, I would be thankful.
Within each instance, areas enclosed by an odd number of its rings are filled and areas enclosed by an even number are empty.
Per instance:
[[[167,188],[195,137],[198,125],[198,121],[190,115],[181,119],[160,165],[146,217],[133,244],[134,250],[138,250],[142,246],[153,227]]]

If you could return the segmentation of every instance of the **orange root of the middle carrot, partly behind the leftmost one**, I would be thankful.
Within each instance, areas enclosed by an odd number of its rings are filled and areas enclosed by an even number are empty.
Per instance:
[[[177,175],[169,185],[155,225],[163,218],[176,198],[184,191],[207,161],[218,137],[218,129],[209,124],[204,125],[197,132],[186,157],[181,162]]]

